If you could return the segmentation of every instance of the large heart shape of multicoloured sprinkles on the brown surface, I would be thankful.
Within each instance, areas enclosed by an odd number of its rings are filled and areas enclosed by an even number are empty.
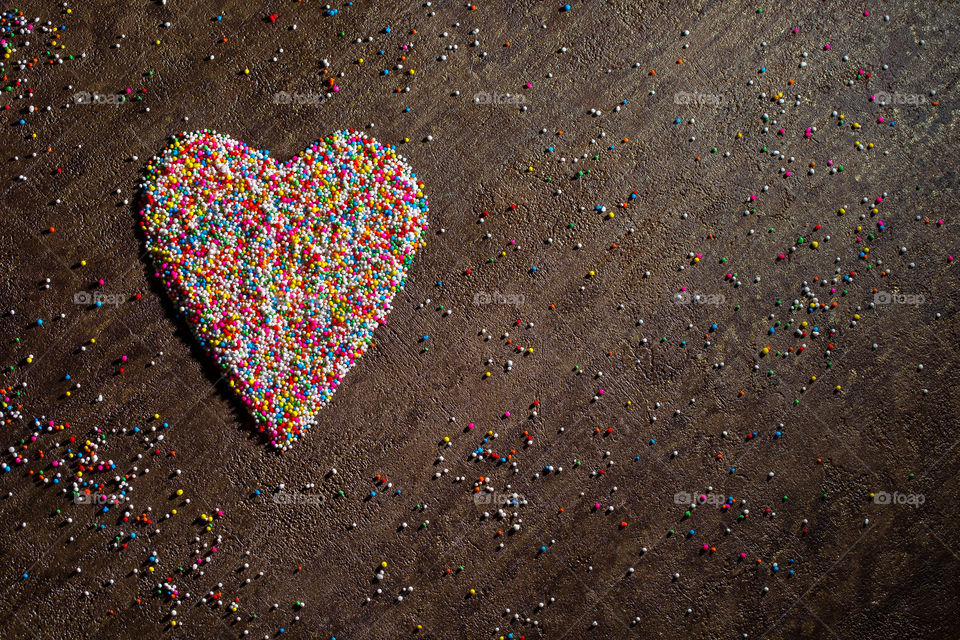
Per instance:
[[[423,183],[393,146],[353,130],[285,164],[184,133],[147,165],[143,202],[157,277],[282,449],[373,345],[426,244]]]

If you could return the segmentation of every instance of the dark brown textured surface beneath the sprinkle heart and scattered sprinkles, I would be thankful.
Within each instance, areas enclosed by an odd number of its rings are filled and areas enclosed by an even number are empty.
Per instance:
[[[947,256],[958,250],[957,3],[590,0],[564,12],[559,3],[532,1],[481,1],[471,10],[443,0],[429,8],[361,0],[334,5],[333,17],[314,0],[216,4],[71,3],[69,15],[53,3],[24,5],[31,18],[67,26],[58,40],[66,45],[62,55],[86,57],[43,64],[49,35],[31,36],[30,46],[14,37],[4,87],[22,83],[0,94],[10,107],[3,112],[0,308],[16,310],[0,318],[0,384],[28,384],[18,387],[20,397],[6,394],[22,405],[23,419],[5,407],[3,441],[21,451],[29,444],[30,459],[15,464],[7,454],[13,470],[0,476],[0,636],[233,638],[249,630],[249,637],[273,637],[284,628],[294,637],[350,639],[956,637],[960,294]],[[267,18],[273,13],[276,22]],[[684,29],[689,36],[681,36]],[[445,31],[449,37],[441,37]],[[355,42],[368,36],[373,42]],[[474,39],[479,47],[470,46]],[[405,43],[414,47],[401,51]],[[457,50],[446,49],[453,44]],[[806,68],[799,67],[803,51]],[[380,75],[401,54],[416,75]],[[14,65],[27,57],[38,64]],[[273,100],[278,91],[319,93],[341,72],[341,90],[329,100]],[[65,107],[78,91],[127,87],[133,95],[146,89],[143,101]],[[522,94],[528,108],[476,104],[479,91]],[[782,107],[771,101],[778,91]],[[925,102],[880,107],[868,100],[877,91]],[[717,95],[720,106],[678,104],[680,92]],[[30,113],[29,105],[39,110]],[[844,126],[833,110],[846,115]],[[776,135],[772,124],[763,133],[764,113],[787,133]],[[896,127],[879,125],[881,113]],[[677,117],[684,123],[674,124]],[[21,118],[25,125],[17,124]],[[863,128],[852,130],[854,121]],[[140,172],[184,130],[215,129],[288,158],[325,133],[370,123],[376,126],[368,133],[399,144],[426,183],[428,245],[389,323],[377,330],[376,347],[319,424],[279,455],[251,429],[151,282],[133,205]],[[811,126],[818,131],[805,139]],[[857,150],[857,140],[876,146]],[[764,145],[796,160],[771,157],[760,151]],[[583,153],[589,157],[573,164]],[[831,159],[845,170],[829,174]],[[778,174],[781,167],[792,177]],[[628,200],[634,191],[638,198]],[[861,204],[884,192],[880,214]],[[745,204],[751,193],[761,195]],[[623,202],[629,206],[620,208]],[[616,217],[596,212],[598,204]],[[744,216],[748,207],[756,213]],[[855,239],[875,231],[878,219],[886,230],[866,243],[867,271]],[[789,260],[776,260],[798,236],[806,243]],[[694,265],[690,251],[703,259]],[[891,275],[880,277],[876,258]],[[813,283],[833,277],[835,267],[857,272],[841,285],[846,296]],[[730,272],[740,287],[724,277]],[[99,278],[105,284],[95,289]],[[791,312],[804,281],[821,300],[836,299],[836,309]],[[681,286],[724,301],[675,304]],[[922,295],[923,303],[871,309],[875,289]],[[85,290],[142,297],[90,309],[73,303]],[[481,292],[523,296],[523,303],[474,306]],[[778,299],[785,304],[775,306]],[[452,315],[443,316],[440,305]],[[862,317],[852,326],[858,306]],[[768,336],[771,313],[784,324],[810,320],[824,333],[797,338],[779,327]],[[45,320],[42,327],[36,318]],[[713,323],[718,330],[706,346]],[[832,338],[828,328],[836,329]],[[505,331],[534,354],[513,352],[500,337]],[[429,351],[419,342],[425,334]],[[91,337],[96,344],[81,351]],[[799,356],[760,357],[766,345],[776,352],[801,344],[807,349]],[[504,370],[508,359],[511,371]],[[483,380],[487,370],[493,375]],[[82,386],[66,396],[77,382]],[[591,402],[599,388],[603,398]],[[103,402],[95,402],[100,394]],[[35,417],[70,426],[30,443]],[[161,421],[170,428],[157,443],[150,429]],[[471,422],[477,428],[466,432]],[[133,515],[150,507],[155,525],[73,504],[61,491],[65,480],[58,487],[37,480],[41,469],[48,477],[58,471],[45,460],[76,450],[96,429],[107,434],[101,458],[113,460],[116,473],[137,473]],[[487,430],[498,434],[498,452],[515,450],[517,473],[468,458]],[[757,437],[748,438],[752,432]],[[72,445],[71,435],[78,441]],[[543,474],[545,465],[563,472]],[[330,476],[332,468],[339,473]],[[435,479],[444,468],[449,473]],[[381,485],[378,474],[402,494]],[[106,481],[109,492],[114,475],[85,474]],[[466,479],[457,483],[456,476]],[[481,518],[495,509],[474,503],[480,476],[498,493],[525,497],[510,509],[516,517]],[[285,495],[302,490],[324,501],[277,504],[281,483]],[[304,489],[309,483],[315,486]],[[705,505],[684,519],[675,494],[707,486],[745,498],[750,517],[738,519],[738,502],[732,513]],[[365,499],[371,490],[377,496]],[[871,501],[880,491],[922,495],[924,503]],[[596,502],[602,508],[594,512]],[[615,511],[607,514],[610,504]],[[179,515],[164,520],[174,508]],[[205,532],[199,515],[216,508],[224,515]],[[767,508],[776,516],[765,515]],[[519,532],[496,535],[517,519]],[[419,528],[424,520],[429,526]],[[401,530],[404,521],[410,526]],[[694,536],[683,535],[691,528]],[[677,533],[668,536],[670,529]],[[116,536],[126,548],[115,548]],[[704,543],[716,552],[703,552]],[[203,544],[218,551],[200,575],[190,565]],[[151,552],[159,562],[147,577]],[[789,558],[796,562],[788,565]],[[389,566],[375,583],[381,561]],[[183,595],[179,604],[156,595],[168,578]],[[414,591],[401,592],[408,586]],[[222,593],[222,606],[200,602],[210,591]],[[226,606],[234,598],[236,614]],[[305,607],[297,610],[296,601]],[[540,602],[547,606],[537,609]]]

